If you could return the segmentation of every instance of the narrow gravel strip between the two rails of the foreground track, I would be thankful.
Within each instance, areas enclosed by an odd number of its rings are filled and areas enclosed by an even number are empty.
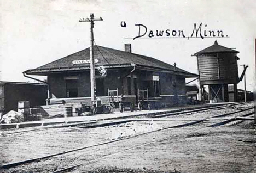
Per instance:
[[[31,163],[16,168],[5,170],[6,172],[50,172],[65,168],[72,164],[86,162],[110,153],[117,152],[130,147],[148,143],[152,140],[158,140],[163,137],[170,137],[171,135],[181,133],[181,131],[188,131],[189,129],[169,129],[168,131],[160,131],[142,135],[141,137],[121,140],[108,145],[92,147],[90,149],[80,150],[79,152],[67,153],[65,155],[56,156],[48,159],[40,160],[40,162]],[[160,133],[160,134],[159,134]]]

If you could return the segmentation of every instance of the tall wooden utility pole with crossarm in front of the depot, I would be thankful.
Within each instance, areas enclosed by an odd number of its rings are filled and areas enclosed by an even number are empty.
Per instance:
[[[94,65],[94,21],[103,21],[102,17],[95,18],[94,14],[90,14],[90,18],[80,18],[79,22],[90,22],[90,73],[91,73],[91,102],[96,101],[96,81],[95,81],[95,65]]]

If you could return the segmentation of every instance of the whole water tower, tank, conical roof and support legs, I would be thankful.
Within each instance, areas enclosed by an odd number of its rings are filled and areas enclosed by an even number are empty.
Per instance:
[[[217,40],[210,47],[194,55],[197,57],[200,87],[205,96],[205,85],[208,85],[208,98],[211,102],[229,102],[228,84],[233,84],[234,101],[237,101],[238,51],[220,46]],[[205,98],[205,97],[203,97]]]

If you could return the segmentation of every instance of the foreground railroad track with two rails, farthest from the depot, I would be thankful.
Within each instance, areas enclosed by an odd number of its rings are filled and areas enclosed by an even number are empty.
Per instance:
[[[90,145],[90,146],[85,146],[85,147],[79,147],[79,148],[74,149],[74,150],[68,150],[68,151],[64,151],[64,152],[60,152],[60,153],[54,153],[53,155],[47,155],[47,156],[43,156],[43,157],[38,157],[38,158],[33,158],[33,159],[22,160],[21,162],[15,162],[15,163],[10,163],[10,164],[5,164],[5,165],[3,165],[3,168],[4,168],[4,169],[13,168],[14,166],[18,166],[18,165],[22,165],[22,164],[27,164],[27,163],[32,163],[32,162],[35,162],[35,161],[37,161],[37,160],[42,160],[42,159],[50,158],[50,157],[54,157],[54,156],[65,155],[66,153],[72,153],[72,152],[75,152],[75,151],[80,151],[80,150],[84,150],[84,149],[90,149],[90,148],[96,147],[96,146],[107,145],[107,144],[115,143],[115,142],[121,141],[121,140],[127,140],[127,139],[131,139],[131,138],[136,138],[136,137],[139,137],[139,136],[142,136],[142,135],[146,135],[146,134],[149,134],[149,133],[155,133],[155,132],[159,132],[159,131],[165,131],[165,130],[171,129],[171,128],[180,128],[180,127],[187,127],[187,126],[198,125],[198,124],[203,123],[203,122],[205,122],[205,121],[207,121],[207,120],[210,120],[210,119],[214,119],[214,118],[218,118],[218,117],[222,117],[222,116],[227,116],[227,115],[231,115],[231,114],[237,114],[237,113],[247,112],[247,111],[249,111],[249,110],[251,110],[251,109],[254,109],[254,107],[246,108],[246,109],[243,109],[243,110],[238,110],[238,111],[232,112],[232,113],[213,115],[213,116],[209,116],[209,117],[207,117],[207,118],[203,118],[203,119],[200,119],[200,120],[197,120],[197,121],[188,122],[188,123],[183,123],[183,124],[181,124],[181,125],[168,126],[168,127],[165,127],[165,128],[156,129],[156,130],[154,130],[154,131],[149,131],[149,132],[146,132],[146,133],[141,133],[141,134],[136,134],[136,135],[132,135],[132,136],[129,136],[129,137],[125,137],[125,138],[120,138],[120,139],[115,139],[115,140],[106,141],[106,142],[99,143],[99,144],[96,144],[96,145]],[[239,116],[239,117],[240,117],[240,116],[249,116],[249,115],[252,115],[252,114],[254,114],[254,112],[244,113],[243,115],[234,116],[234,117],[232,117],[232,118],[229,119],[229,120],[220,121],[220,122],[218,122],[218,123],[213,123],[213,124],[211,124],[211,125],[207,125],[207,126],[203,126],[203,127],[200,127],[200,128],[196,128],[196,129],[193,129],[193,130],[191,130],[191,131],[196,131],[196,130],[199,130],[199,129],[202,129],[202,128],[206,128],[206,127],[216,127],[216,126],[219,126],[219,125],[224,125],[225,123],[229,123],[229,122],[231,122],[231,121],[235,121],[236,118],[238,118],[238,116]],[[167,116],[167,115],[166,115],[166,116]],[[95,126],[95,125],[93,125],[93,126]],[[77,128],[78,128],[78,127],[77,127]],[[88,127],[79,127],[79,128],[88,128]],[[189,131],[189,132],[191,132],[191,131]],[[94,159],[94,160],[90,160],[89,162],[79,163],[79,164],[76,164],[76,165],[72,165],[72,166],[69,166],[68,168],[61,169],[61,170],[58,170],[58,171],[55,171],[55,172],[62,172],[62,171],[66,171],[66,170],[70,170],[70,169],[72,169],[72,168],[75,168],[76,166],[79,166],[79,165],[85,165],[85,164],[94,163],[94,162],[96,162],[98,159],[102,159],[102,158],[110,157],[110,156],[113,156],[113,155],[117,155],[118,153],[121,153],[121,152],[126,152],[126,151],[129,151],[129,150],[133,150],[133,149],[136,149],[137,147],[141,147],[141,146],[144,146],[144,145],[149,145],[149,144],[152,144],[152,143],[156,143],[156,142],[158,142],[158,141],[165,140],[165,139],[169,139],[169,138],[173,138],[173,137],[176,137],[177,135],[182,135],[182,134],[184,134],[184,133],[189,133],[189,132],[179,133],[179,134],[176,134],[176,135],[172,135],[171,137],[168,137],[168,138],[162,138],[162,139],[159,139],[159,140],[151,141],[150,143],[147,143],[147,144],[134,146],[134,147],[131,147],[130,149],[121,150],[121,151],[118,151],[118,152],[116,152],[116,153],[112,153],[112,154],[110,154],[110,155],[106,155],[106,156],[103,156],[103,157],[100,157],[100,158],[97,158],[97,159]]]

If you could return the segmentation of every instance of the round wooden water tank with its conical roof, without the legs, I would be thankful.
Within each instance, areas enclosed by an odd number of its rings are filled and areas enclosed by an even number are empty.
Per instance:
[[[195,53],[200,76],[200,85],[238,83],[238,51],[214,45]]]

